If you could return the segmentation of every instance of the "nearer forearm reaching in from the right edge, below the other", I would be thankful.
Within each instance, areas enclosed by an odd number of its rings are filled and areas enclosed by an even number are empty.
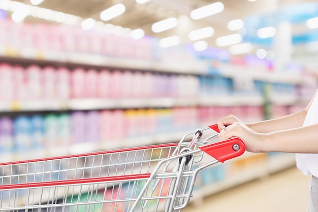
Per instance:
[[[264,134],[259,152],[318,153],[318,124]]]

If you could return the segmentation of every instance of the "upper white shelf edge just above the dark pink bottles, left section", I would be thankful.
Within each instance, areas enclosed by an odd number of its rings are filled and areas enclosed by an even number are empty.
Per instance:
[[[65,66],[69,68],[96,68],[131,71],[150,71],[178,74],[204,74],[208,70],[208,63],[204,61],[191,61],[188,63],[165,63],[163,61],[149,61],[136,58],[107,57],[98,54],[76,53],[58,54],[52,59],[25,58],[20,56],[0,56],[0,62],[21,64],[24,66],[38,64],[39,66]]]

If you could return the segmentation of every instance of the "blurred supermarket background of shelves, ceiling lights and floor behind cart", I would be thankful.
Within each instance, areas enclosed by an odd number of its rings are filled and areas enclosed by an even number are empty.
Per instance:
[[[176,142],[290,114],[317,88],[315,1],[1,0],[0,32],[1,162]],[[186,209],[305,211],[295,169],[246,153],[203,170]]]

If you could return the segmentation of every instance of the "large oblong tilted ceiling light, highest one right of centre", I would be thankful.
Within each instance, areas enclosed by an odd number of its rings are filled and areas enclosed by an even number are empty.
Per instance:
[[[220,13],[224,10],[224,5],[220,2],[213,3],[198,9],[193,10],[190,13],[190,17],[194,20],[198,20],[216,13]]]

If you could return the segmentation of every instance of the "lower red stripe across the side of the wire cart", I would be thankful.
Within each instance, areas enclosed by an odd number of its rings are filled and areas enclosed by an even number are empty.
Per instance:
[[[120,175],[120,176],[106,176],[106,177],[92,177],[92,178],[83,178],[83,179],[65,179],[65,180],[54,180],[46,182],[37,182],[37,183],[23,183],[23,184],[10,184],[10,185],[1,185],[0,190],[8,189],[27,189],[27,188],[44,188],[51,186],[71,186],[71,185],[83,185],[91,183],[110,183],[115,181],[123,180],[137,180],[137,179],[148,179],[151,173],[143,174],[129,174],[129,175]]]

